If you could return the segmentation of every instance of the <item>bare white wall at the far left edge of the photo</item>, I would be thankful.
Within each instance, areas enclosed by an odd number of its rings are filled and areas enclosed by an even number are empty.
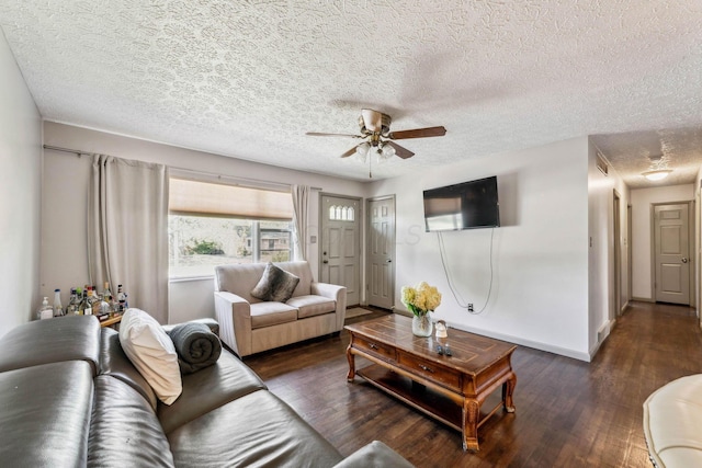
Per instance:
[[[0,335],[41,304],[42,122],[0,30]]]

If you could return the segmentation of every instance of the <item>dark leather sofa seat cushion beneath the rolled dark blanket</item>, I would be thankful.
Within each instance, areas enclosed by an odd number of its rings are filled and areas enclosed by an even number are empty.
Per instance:
[[[168,434],[217,407],[265,388],[253,370],[223,350],[215,365],[183,375],[183,392],[172,404],[158,406],[158,419]]]

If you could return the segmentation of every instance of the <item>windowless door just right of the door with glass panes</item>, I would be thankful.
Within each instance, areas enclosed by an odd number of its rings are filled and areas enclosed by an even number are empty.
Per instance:
[[[395,197],[369,201],[367,305],[395,306]]]

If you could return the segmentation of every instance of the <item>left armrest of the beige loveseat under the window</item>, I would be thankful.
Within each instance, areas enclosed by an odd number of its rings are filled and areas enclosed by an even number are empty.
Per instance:
[[[251,305],[241,296],[215,292],[219,339],[239,356],[251,354]]]

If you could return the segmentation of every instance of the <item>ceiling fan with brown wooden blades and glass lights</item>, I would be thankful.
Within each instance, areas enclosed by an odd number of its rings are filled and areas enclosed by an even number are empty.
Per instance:
[[[390,132],[390,122],[392,118],[387,114],[373,111],[372,109],[363,109],[361,110],[361,116],[359,117],[359,126],[361,127],[360,135],[325,134],[319,132],[307,132],[305,135],[314,137],[350,137],[363,139],[364,141],[354,146],[341,155],[341,157],[348,158],[352,155],[359,155],[363,161],[365,161],[366,157],[373,153],[377,155],[378,160],[389,159],[395,155],[403,159],[411,158],[415,153],[407,148],[397,145],[394,140],[441,137],[446,134],[446,129],[443,126]],[[370,170],[369,176],[373,176]]]

